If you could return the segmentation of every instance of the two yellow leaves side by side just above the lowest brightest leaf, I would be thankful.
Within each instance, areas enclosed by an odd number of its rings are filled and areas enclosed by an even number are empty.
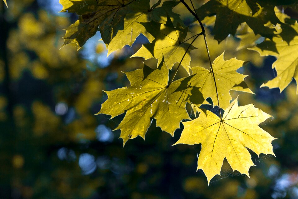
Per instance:
[[[235,58],[224,61],[223,54],[215,59],[213,67],[215,78],[220,82],[218,93],[221,107],[228,107],[230,90],[251,92],[236,70],[244,61]],[[124,143],[137,136],[145,137],[151,118],[157,126],[174,135],[183,119],[189,119],[186,103],[203,104],[211,97],[216,101],[216,91],[212,73],[203,67],[193,67],[193,75],[169,82],[169,69],[165,62],[153,70],[146,65],[143,69],[125,73],[131,82],[130,87],[106,91],[108,99],[102,104],[99,113],[112,118],[124,113],[125,117],[116,129],[121,130]],[[215,104],[216,105],[216,104]],[[99,114],[98,113],[98,114]]]

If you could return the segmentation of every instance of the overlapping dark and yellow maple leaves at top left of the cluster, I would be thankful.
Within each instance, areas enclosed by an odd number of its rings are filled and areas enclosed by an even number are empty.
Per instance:
[[[150,8],[150,0],[60,0],[61,12],[75,12],[79,19],[66,29],[64,44],[75,43],[78,49],[99,30],[107,44],[108,53],[132,45],[143,34],[149,42],[154,37],[139,22],[166,23],[171,15],[175,23],[179,15],[172,12],[178,2],[163,2],[161,7]]]

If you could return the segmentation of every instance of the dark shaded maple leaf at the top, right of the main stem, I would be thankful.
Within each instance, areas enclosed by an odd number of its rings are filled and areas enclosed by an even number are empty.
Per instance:
[[[263,4],[264,7],[261,7]],[[210,0],[196,11],[201,20],[216,14],[214,39],[218,42],[224,40],[229,34],[235,35],[237,27],[243,22],[249,25],[255,35],[272,39],[274,30],[264,25],[268,22],[272,24],[281,22],[275,15],[274,5],[271,4],[270,1],[257,0]]]

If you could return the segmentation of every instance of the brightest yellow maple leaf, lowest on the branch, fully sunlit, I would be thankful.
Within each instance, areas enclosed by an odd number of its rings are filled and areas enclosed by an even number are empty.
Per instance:
[[[254,163],[246,148],[257,155],[272,154],[271,142],[275,139],[259,124],[271,115],[254,107],[253,104],[238,106],[235,99],[225,110],[222,120],[214,113],[195,107],[200,112],[198,118],[183,122],[184,129],[180,139],[174,144],[201,144],[197,169],[202,169],[208,184],[215,175],[220,175],[224,158],[233,171],[248,174]]]

